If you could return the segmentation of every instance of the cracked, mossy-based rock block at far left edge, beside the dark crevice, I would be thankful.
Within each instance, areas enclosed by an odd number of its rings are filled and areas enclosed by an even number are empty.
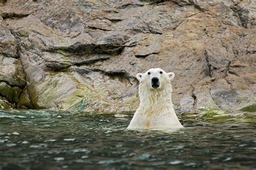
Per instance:
[[[18,103],[26,84],[22,62],[18,58],[17,41],[0,17],[0,97],[5,98],[1,102],[4,108],[9,103],[12,106]]]

